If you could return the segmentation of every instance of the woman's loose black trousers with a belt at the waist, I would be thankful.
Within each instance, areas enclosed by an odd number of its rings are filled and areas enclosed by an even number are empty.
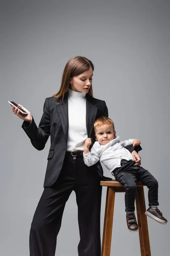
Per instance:
[[[75,157],[74,157],[75,158]],[[30,256],[54,256],[62,214],[74,190],[78,206],[79,256],[100,256],[100,208],[102,187],[96,167],[82,156],[66,156],[56,183],[44,189],[30,230]]]

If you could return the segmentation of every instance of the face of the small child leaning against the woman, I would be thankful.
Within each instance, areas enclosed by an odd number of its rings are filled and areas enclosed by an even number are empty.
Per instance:
[[[113,125],[102,125],[95,128],[95,136],[100,145],[106,145],[115,139],[116,131],[113,130]]]

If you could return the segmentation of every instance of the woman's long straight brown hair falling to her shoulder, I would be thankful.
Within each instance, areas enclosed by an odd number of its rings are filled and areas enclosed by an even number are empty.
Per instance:
[[[55,98],[62,97],[62,101],[64,99],[65,93],[68,92],[70,86],[70,79],[73,76],[79,76],[80,74],[84,73],[85,71],[92,68],[94,71],[93,63],[83,56],[75,56],[71,58],[67,64],[65,65],[63,74],[62,74],[62,82],[58,93],[54,94]],[[92,85],[88,90],[88,94],[93,97],[93,89]]]

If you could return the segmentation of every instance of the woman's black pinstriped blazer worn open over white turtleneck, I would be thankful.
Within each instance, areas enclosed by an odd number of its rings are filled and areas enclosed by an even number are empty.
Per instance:
[[[79,106],[77,106],[78,108]],[[76,113],[75,113],[76,114]],[[99,116],[108,116],[108,108],[104,101],[95,99],[86,94],[86,128],[88,137],[91,137],[92,144],[95,142],[94,121]],[[45,173],[44,187],[52,186],[62,169],[68,137],[68,99],[67,93],[64,100],[49,97],[45,99],[42,118],[39,127],[32,119],[31,124],[24,121],[22,128],[37,150],[42,150],[48,137],[51,136],[51,146],[48,154],[48,164]],[[129,149],[129,148],[128,148]],[[131,150],[133,151],[133,147]],[[91,168],[91,167],[88,167]],[[103,176],[101,164],[98,162],[93,169],[99,174],[100,180],[111,180]]]

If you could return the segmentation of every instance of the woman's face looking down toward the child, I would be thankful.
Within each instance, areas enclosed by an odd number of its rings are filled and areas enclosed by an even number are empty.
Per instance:
[[[89,70],[84,73],[73,76],[70,80],[70,89],[79,93],[88,93],[92,84],[93,70],[90,67]]]

